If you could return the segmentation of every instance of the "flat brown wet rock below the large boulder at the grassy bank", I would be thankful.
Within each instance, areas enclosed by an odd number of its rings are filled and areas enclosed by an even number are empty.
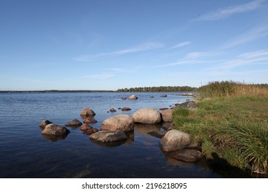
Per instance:
[[[168,156],[185,162],[196,162],[203,157],[201,152],[194,149],[179,149],[169,153]]]

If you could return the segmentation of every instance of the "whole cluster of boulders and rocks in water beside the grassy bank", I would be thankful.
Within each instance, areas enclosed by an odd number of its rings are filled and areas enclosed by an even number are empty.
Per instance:
[[[135,98],[132,95],[131,98]],[[136,98],[137,99],[137,98]],[[194,101],[187,101],[180,104],[180,107],[195,108]],[[131,110],[130,108],[122,108],[122,110]],[[111,108],[110,112],[115,112]],[[172,112],[173,109],[163,108],[161,112],[155,108],[142,108],[130,115],[115,115],[102,122],[100,131],[96,128],[92,128],[89,123],[96,123],[93,119],[96,115],[90,108],[84,108],[80,112],[80,116],[83,119],[83,123],[78,119],[74,119],[65,126],[72,128],[81,127],[80,130],[85,134],[89,134],[89,139],[96,143],[111,143],[112,146],[124,143],[127,139],[127,133],[133,132],[134,125],[159,125],[163,123],[162,128],[164,131],[152,131],[148,132],[153,136],[161,138],[159,147],[167,156],[176,158],[178,160],[184,160],[188,162],[194,162],[202,157],[201,152],[196,148],[198,144],[192,139],[189,134],[180,132],[179,130],[172,130]],[[51,136],[67,136],[69,130],[64,126],[56,125],[51,121],[42,121],[39,125],[42,128],[43,135]],[[137,127],[137,126],[136,126]]]

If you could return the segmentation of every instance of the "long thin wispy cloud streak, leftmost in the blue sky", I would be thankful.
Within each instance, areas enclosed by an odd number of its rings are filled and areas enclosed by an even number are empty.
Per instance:
[[[158,49],[158,48],[163,47],[163,46],[164,45],[159,44],[159,43],[145,43],[142,45],[138,45],[136,47],[132,47],[130,49],[122,49],[119,51],[113,51],[113,52],[107,52],[107,53],[98,53],[95,55],[78,56],[76,58],[73,58],[73,60],[89,62],[89,61],[94,60],[96,58],[101,58],[101,57],[105,57],[105,56],[121,56],[121,55],[124,55],[126,53],[135,53],[135,52],[139,52],[139,51],[147,51],[150,49]]]

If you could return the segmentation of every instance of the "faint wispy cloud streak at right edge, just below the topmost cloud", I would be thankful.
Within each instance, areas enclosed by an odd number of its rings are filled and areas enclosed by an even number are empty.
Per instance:
[[[245,34],[238,36],[232,40],[229,40],[227,43],[223,44],[220,49],[230,49],[232,47],[237,47],[245,43],[249,43],[259,38],[268,36],[268,26],[260,26],[254,29],[249,30]]]

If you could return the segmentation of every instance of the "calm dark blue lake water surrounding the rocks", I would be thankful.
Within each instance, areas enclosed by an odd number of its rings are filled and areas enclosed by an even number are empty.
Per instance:
[[[159,97],[167,94],[168,97]],[[0,94],[0,178],[221,178],[203,160],[183,163],[166,158],[152,127],[135,127],[126,143],[107,147],[92,143],[80,128],[58,141],[45,138],[38,127],[47,119],[58,125],[79,119],[89,107],[100,129],[104,119],[140,108],[169,108],[191,97],[179,93],[3,93]],[[150,98],[150,96],[154,98]],[[118,108],[132,110],[122,112]],[[107,112],[115,108],[117,112]],[[159,128],[158,128],[159,129]]]

